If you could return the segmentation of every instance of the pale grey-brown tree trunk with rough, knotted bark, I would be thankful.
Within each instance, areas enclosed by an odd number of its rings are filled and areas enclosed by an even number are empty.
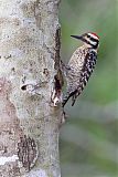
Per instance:
[[[58,1],[0,0],[1,177],[61,176]]]

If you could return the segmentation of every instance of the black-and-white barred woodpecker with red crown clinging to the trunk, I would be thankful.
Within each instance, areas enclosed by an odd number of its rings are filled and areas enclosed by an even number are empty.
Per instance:
[[[71,97],[73,106],[76,97],[84,90],[96,65],[99,48],[99,37],[96,33],[87,32],[71,37],[83,41],[83,45],[73,53],[67,65],[62,62],[62,70],[67,82],[66,95],[62,102],[63,107]]]

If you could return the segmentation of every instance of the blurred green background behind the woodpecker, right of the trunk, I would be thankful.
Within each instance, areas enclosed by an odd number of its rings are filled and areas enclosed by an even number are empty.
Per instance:
[[[67,63],[82,43],[71,34],[100,37],[98,62],[61,129],[62,177],[118,177],[118,1],[62,0],[61,58]]]

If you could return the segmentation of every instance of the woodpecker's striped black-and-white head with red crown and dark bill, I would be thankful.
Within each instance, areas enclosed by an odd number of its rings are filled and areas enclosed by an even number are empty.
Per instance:
[[[87,48],[97,50],[99,46],[99,37],[96,33],[88,32],[82,35],[71,35],[84,42]]]

